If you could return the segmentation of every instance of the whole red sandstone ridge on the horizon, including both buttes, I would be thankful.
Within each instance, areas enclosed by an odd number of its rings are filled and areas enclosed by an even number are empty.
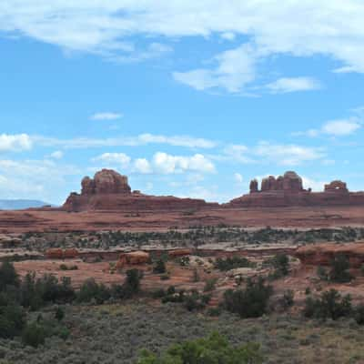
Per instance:
[[[333,181],[323,192],[304,189],[302,178],[295,172],[284,176],[267,177],[258,187],[258,181],[250,183],[250,193],[235,198],[227,204],[207,203],[203,199],[173,196],[149,196],[132,191],[126,176],[114,170],[103,169],[94,178],[85,177],[81,193],[71,193],[62,210],[80,211],[178,211],[231,207],[324,207],[364,206],[364,192],[350,192],[346,183]]]

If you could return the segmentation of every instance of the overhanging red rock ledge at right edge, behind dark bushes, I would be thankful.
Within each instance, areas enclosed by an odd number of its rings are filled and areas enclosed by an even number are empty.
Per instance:
[[[294,255],[302,264],[313,266],[329,266],[335,257],[343,255],[349,258],[351,268],[360,268],[364,264],[364,243],[314,244],[298,248]]]

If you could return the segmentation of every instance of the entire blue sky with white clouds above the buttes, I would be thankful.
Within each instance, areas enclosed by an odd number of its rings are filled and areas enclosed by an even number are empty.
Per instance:
[[[60,204],[101,167],[220,202],[292,169],[362,190],[363,18],[359,0],[3,0],[0,198]]]

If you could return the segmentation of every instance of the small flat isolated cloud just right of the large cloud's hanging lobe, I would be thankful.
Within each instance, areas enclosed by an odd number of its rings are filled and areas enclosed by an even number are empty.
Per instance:
[[[320,83],[312,77],[283,77],[268,84],[267,87],[273,94],[287,94],[290,92],[317,90],[320,88]]]

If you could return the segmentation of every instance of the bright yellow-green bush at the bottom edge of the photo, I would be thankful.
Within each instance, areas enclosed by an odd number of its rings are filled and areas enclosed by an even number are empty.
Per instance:
[[[259,364],[262,362],[258,344],[248,343],[235,348],[218,333],[212,333],[207,339],[174,345],[161,357],[145,350],[137,364]]]

